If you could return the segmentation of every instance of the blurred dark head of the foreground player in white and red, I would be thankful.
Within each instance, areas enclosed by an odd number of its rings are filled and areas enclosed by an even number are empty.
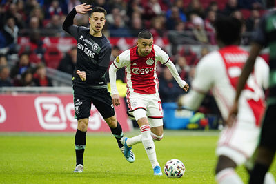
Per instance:
[[[232,45],[242,37],[242,21],[235,17],[219,15],[214,22],[217,39],[225,45]]]

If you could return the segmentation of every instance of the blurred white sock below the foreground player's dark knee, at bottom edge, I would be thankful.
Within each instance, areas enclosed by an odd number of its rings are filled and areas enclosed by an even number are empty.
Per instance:
[[[215,178],[219,184],[243,184],[242,179],[239,178],[233,168],[221,170]]]

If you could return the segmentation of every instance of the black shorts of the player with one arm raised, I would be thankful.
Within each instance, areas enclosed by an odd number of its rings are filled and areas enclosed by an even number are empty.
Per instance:
[[[115,115],[112,99],[107,88],[91,89],[73,86],[75,116],[77,119],[89,118],[91,103],[95,105],[103,119]]]

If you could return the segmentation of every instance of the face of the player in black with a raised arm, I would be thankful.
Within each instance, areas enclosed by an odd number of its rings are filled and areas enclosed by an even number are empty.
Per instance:
[[[94,12],[89,17],[90,29],[94,30],[94,32],[101,32],[103,29],[103,25],[106,23],[106,18],[104,13]]]

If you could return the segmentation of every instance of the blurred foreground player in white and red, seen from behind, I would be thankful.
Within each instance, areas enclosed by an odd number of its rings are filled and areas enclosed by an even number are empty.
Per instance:
[[[239,48],[242,23],[233,17],[217,17],[215,30],[219,50],[210,52],[196,66],[193,88],[179,98],[179,105],[197,110],[204,94],[213,92],[224,120],[235,98],[236,85],[248,52]],[[239,114],[232,127],[224,127],[217,144],[219,156],[215,170],[220,184],[243,183],[235,172],[253,155],[257,146],[260,125],[264,112],[264,92],[268,87],[269,68],[264,59],[258,57],[254,72],[250,75],[239,101]],[[246,167],[248,171],[250,168]],[[265,183],[275,183],[272,174],[266,174]]]

